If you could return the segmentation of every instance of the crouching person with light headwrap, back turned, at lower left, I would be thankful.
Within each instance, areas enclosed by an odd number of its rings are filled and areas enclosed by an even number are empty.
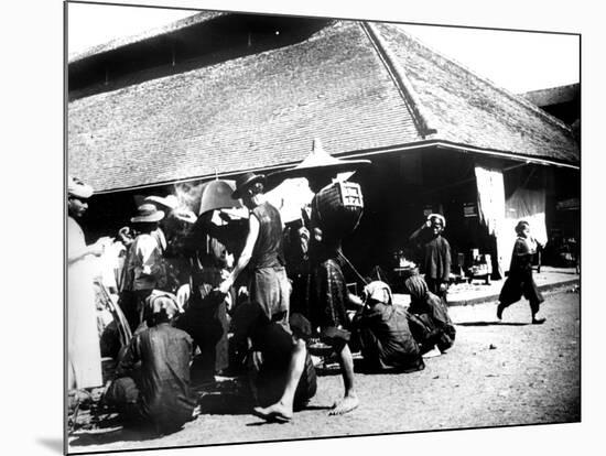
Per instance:
[[[178,430],[194,417],[190,389],[192,338],[171,326],[177,312],[171,293],[154,291],[145,300],[148,328],[130,340],[106,400],[127,420],[148,422],[160,434]]]

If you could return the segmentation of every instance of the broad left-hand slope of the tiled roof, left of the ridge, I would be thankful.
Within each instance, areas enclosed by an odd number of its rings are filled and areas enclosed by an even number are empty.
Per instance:
[[[420,139],[359,23],[74,100],[68,169],[96,189],[295,163]]]

